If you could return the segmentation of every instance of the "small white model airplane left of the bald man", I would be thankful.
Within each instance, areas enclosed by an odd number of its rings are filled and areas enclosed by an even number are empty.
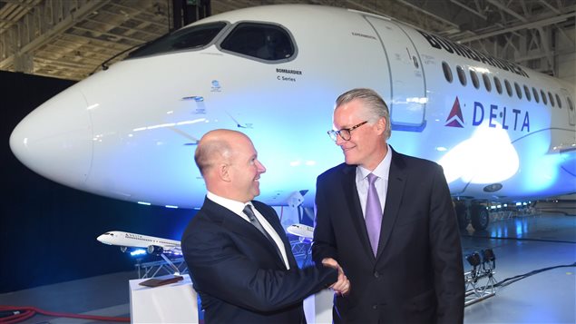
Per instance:
[[[143,248],[146,249],[148,254],[160,255],[169,253],[171,255],[182,255],[180,241],[126,231],[107,231],[98,236],[96,240],[104,244],[119,246],[122,252],[126,252],[128,248]]]

